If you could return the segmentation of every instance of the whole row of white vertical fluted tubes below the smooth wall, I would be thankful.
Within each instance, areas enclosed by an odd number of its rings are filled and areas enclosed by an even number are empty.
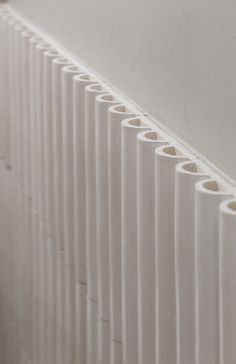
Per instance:
[[[5,364],[233,364],[236,200],[0,9]]]

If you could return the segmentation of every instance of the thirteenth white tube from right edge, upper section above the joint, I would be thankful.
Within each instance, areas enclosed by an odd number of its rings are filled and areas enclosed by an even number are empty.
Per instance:
[[[52,61],[59,57],[57,51],[44,53],[43,58],[43,123],[44,123],[44,174],[45,174],[45,213],[46,233],[55,237],[55,201],[54,201],[54,160],[53,160],[53,95]]]

